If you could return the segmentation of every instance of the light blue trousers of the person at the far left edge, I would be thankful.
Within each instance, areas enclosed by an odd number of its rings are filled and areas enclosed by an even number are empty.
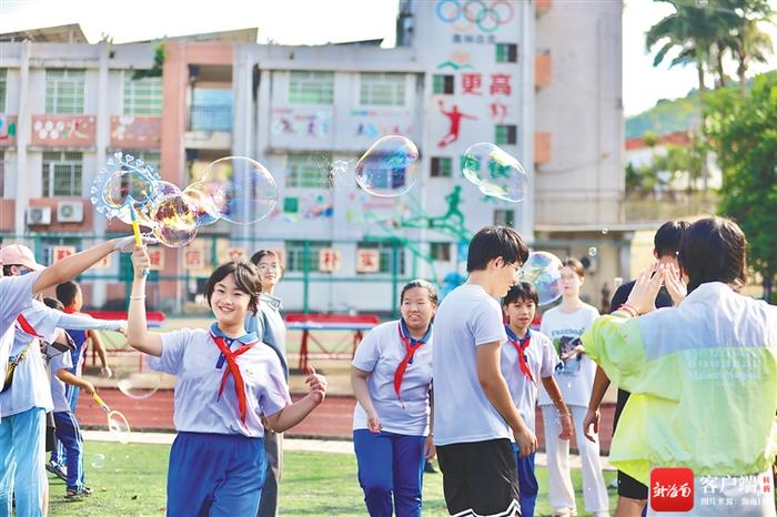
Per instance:
[[[17,516],[43,515],[46,479],[46,412],[33,407],[0,420],[0,515],[11,514],[13,494]]]

